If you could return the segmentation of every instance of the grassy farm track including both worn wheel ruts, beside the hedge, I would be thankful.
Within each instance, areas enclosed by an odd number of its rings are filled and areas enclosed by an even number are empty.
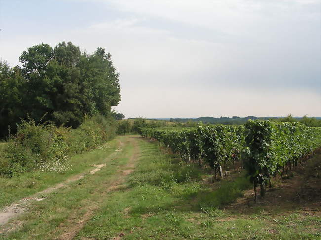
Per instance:
[[[108,192],[117,188],[133,171],[139,154],[134,138],[125,136],[117,140],[122,148],[112,154],[106,153],[109,157],[103,160],[104,167],[100,165],[100,171],[74,175],[41,191],[36,196],[42,196],[42,201],[29,198],[33,201],[23,206],[26,212],[0,228],[0,239],[7,239],[7,236],[9,239],[72,239],[101,201],[108,197]],[[92,154],[96,155],[95,152]],[[26,229],[35,232],[32,237]]]

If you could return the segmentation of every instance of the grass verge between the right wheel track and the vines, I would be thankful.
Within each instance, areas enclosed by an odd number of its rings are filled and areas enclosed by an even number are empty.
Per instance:
[[[115,191],[80,231],[93,239],[320,239],[320,218],[292,213],[232,214],[224,206],[251,188],[243,177],[218,189],[201,181],[204,172],[175,162],[156,144],[140,141],[142,156],[127,188]],[[185,174],[184,174],[185,173]],[[205,172],[206,174],[206,172]]]

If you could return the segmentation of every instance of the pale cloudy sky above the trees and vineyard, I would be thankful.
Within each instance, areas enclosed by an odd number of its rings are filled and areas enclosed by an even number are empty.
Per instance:
[[[0,0],[0,59],[103,47],[128,117],[321,116],[320,0]]]

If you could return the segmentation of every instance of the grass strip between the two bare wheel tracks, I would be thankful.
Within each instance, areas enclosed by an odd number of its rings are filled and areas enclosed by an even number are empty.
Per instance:
[[[0,235],[0,239],[57,238],[63,232],[64,226],[70,224],[71,219],[80,218],[88,209],[99,206],[101,197],[106,195],[106,184],[115,180],[115,171],[128,161],[132,148],[127,143],[117,155],[117,162],[106,162],[106,167],[94,175],[88,175],[68,187],[43,196],[46,198],[43,201],[34,202],[29,211],[15,221],[15,225],[23,223],[23,226],[7,236]]]

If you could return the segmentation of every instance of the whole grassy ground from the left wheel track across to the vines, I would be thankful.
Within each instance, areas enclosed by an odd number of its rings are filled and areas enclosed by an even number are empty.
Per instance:
[[[119,142],[122,150],[115,151]],[[4,225],[0,240],[321,239],[319,195],[284,204],[292,201],[285,189],[294,179],[320,187],[310,175],[321,166],[321,154],[306,167],[313,172],[298,171],[254,206],[251,186],[237,170],[212,182],[207,170],[181,163],[156,142],[121,136],[115,143],[91,163],[105,166],[32,201]]]

